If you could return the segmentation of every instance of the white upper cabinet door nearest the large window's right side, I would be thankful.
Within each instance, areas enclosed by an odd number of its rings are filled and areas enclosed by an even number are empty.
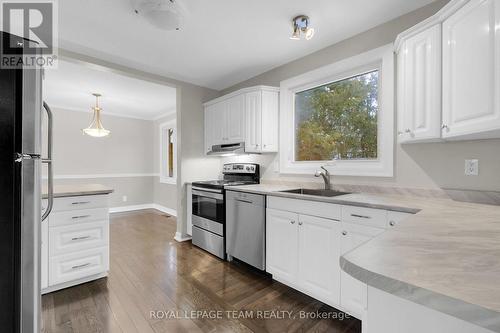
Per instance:
[[[441,26],[404,40],[398,59],[398,141],[441,137]]]

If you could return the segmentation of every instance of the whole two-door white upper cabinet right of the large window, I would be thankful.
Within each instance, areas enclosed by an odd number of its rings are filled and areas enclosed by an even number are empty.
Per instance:
[[[400,143],[500,137],[500,0],[451,0],[396,51]]]

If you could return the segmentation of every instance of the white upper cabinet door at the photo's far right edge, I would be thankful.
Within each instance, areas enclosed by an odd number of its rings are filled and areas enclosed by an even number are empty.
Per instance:
[[[442,135],[500,137],[500,0],[471,0],[443,22]]]

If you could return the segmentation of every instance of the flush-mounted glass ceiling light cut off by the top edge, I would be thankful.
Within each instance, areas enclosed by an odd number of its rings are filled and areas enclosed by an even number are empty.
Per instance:
[[[178,0],[134,0],[134,12],[161,30],[181,30],[187,15]]]

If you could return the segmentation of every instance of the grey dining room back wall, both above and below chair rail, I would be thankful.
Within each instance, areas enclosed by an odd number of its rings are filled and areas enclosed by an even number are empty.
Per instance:
[[[110,186],[115,190],[110,195],[111,207],[153,202],[153,122],[103,115],[102,121],[111,135],[92,138],[81,131],[91,121],[90,111],[52,109],[56,184]],[[122,200],[123,196],[127,201]]]

